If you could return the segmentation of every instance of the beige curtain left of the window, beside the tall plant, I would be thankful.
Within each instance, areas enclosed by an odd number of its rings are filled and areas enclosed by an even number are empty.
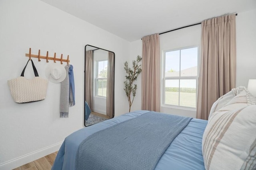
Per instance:
[[[142,38],[142,110],[160,111],[159,34]]]

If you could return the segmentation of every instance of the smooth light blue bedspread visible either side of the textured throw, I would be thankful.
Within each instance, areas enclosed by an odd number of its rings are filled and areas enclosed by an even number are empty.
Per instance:
[[[89,135],[111,127],[122,121],[134,118],[148,111],[136,111],[85,127],[66,137],[63,142],[52,170],[75,170],[75,158],[78,146]],[[173,140],[166,149],[156,170],[204,170],[202,158],[202,135],[207,121],[192,119],[187,127]]]

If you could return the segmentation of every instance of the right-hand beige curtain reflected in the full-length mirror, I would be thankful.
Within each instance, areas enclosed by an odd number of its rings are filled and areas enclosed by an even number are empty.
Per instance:
[[[114,117],[114,68],[115,68],[115,54],[108,52],[108,76],[107,76],[107,115]]]

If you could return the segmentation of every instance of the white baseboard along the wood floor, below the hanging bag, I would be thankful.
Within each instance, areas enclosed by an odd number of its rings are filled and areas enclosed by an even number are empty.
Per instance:
[[[4,162],[0,164],[0,170],[12,170],[14,168],[17,168],[19,166],[22,166],[24,164],[27,164],[29,162],[32,162],[34,160],[37,160],[39,158],[42,158],[48,154],[51,154],[53,152],[56,152],[60,149],[60,146],[62,145],[62,142],[56,143],[54,145],[50,145],[48,147],[45,147],[40,150],[36,150],[34,152],[31,152],[29,154],[25,154],[23,156],[20,156],[18,158],[9,160],[7,162]]]

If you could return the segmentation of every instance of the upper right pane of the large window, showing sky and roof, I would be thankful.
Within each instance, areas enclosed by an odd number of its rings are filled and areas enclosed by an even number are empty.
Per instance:
[[[180,51],[180,76],[197,76],[198,48]]]

